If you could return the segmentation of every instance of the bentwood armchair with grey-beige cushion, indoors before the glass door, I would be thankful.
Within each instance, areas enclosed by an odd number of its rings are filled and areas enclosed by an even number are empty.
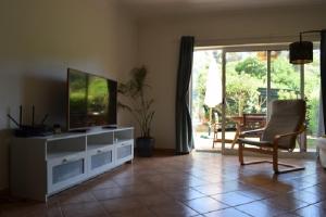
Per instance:
[[[239,162],[241,165],[273,163],[275,174],[304,169],[294,165],[278,163],[278,150],[293,151],[296,138],[304,131],[305,101],[275,100],[272,102],[272,114],[265,128],[243,131],[238,139]],[[248,133],[260,132],[260,141],[244,139]],[[246,145],[259,146],[246,146]],[[243,151],[273,155],[273,161],[243,162]],[[288,167],[279,170],[278,165]]]

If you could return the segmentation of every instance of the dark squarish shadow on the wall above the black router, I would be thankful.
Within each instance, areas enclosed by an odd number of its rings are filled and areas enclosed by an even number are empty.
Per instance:
[[[45,77],[26,74],[22,80],[22,103],[24,124],[32,123],[32,106],[35,106],[35,123],[40,124],[46,114],[46,125],[66,124],[66,81],[65,75]],[[18,108],[18,107],[17,107]]]

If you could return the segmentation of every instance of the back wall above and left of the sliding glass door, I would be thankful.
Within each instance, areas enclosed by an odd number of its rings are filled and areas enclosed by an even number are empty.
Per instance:
[[[175,148],[175,92],[179,39],[190,35],[197,44],[223,46],[290,42],[299,31],[326,28],[325,8],[243,11],[143,21],[139,28],[139,63],[151,73],[156,115],[156,146]],[[289,40],[290,38],[290,40]]]

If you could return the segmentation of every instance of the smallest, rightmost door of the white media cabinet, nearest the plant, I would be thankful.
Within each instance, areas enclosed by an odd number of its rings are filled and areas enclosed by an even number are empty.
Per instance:
[[[134,158],[134,140],[116,143],[116,164],[123,164]]]

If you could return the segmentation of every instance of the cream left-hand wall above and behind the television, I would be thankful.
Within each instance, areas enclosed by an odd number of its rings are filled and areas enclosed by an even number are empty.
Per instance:
[[[1,190],[13,127],[7,114],[17,117],[20,104],[29,114],[34,104],[37,122],[49,113],[47,124],[64,125],[66,68],[120,80],[136,64],[138,39],[114,0],[1,0],[0,28]]]

